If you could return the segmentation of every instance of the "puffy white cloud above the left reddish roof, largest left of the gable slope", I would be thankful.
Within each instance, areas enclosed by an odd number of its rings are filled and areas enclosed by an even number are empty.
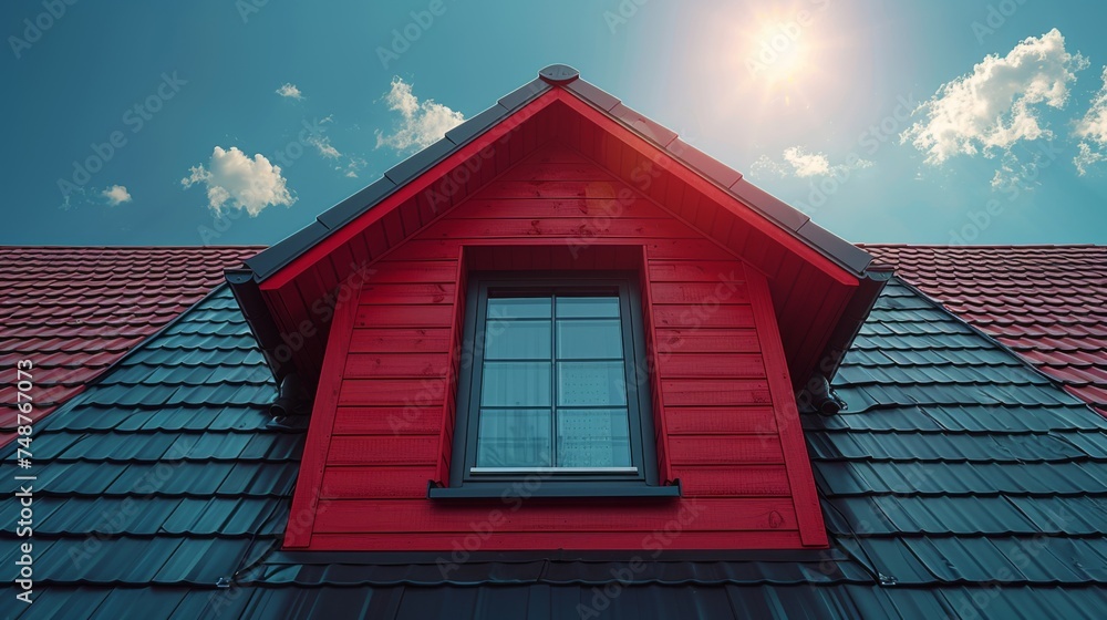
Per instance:
[[[180,179],[186,188],[198,183],[207,187],[208,206],[217,214],[227,203],[256,217],[268,206],[289,206],[296,202],[280,174],[280,166],[270,164],[260,153],[250,159],[235,146],[229,151],[216,146],[207,167],[204,164],[193,166],[189,175]]]

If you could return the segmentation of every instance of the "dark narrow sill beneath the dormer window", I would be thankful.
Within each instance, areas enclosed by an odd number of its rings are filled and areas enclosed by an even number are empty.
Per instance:
[[[627,485],[620,483],[559,483],[542,485],[534,490],[518,488],[513,483],[470,484],[462,487],[436,487],[431,482],[426,496],[430,499],[513,499],[513,498],[546,498],[546,497],[642,497],[672,498],[680,497],[681,480],[670,486]]]

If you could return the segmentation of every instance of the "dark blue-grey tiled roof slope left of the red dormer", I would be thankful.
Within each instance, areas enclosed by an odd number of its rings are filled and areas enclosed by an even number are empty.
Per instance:
[[[269,548],[302,444],[302,431],[268,426],[275,394],[224,286],[37,425],[34,467],[21,473],[38,476],[34,577],[45,592],[25,617],[165,618],[187,588],[205,599]],[[0,507],[6,555],[18,510]],[[205,617],[189,609],[180,617]]]

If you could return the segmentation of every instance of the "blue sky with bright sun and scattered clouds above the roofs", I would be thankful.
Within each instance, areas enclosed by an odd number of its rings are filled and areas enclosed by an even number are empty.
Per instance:
[[[555,62],[851,241],[1107,242],[1107,6],[4,2],[4,245],[272,244]]]

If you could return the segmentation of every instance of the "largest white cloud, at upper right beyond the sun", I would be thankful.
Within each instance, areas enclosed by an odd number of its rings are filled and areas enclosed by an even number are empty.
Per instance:
[[[923,121],[900,134],[942,164],[959,154],[987,157],[1008,152],[1018,141],[1051,138],[1038,118],[1042,105],[1062,108],[1076,72],[1088,66],[1079,53],[1065,51],[1057,29],[1020,42],[1006,56],[991,54],[972,73],[943,84],[915,111]]]

